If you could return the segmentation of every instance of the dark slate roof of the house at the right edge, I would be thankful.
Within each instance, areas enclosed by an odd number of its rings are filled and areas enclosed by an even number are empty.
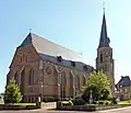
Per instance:
[[[118,87],[120,88],[120,87],[129,87],[129,86],[131,86],[130,77],[129,76],[124,76],[124,77],[121,76],[121,79],[118,82]]]

